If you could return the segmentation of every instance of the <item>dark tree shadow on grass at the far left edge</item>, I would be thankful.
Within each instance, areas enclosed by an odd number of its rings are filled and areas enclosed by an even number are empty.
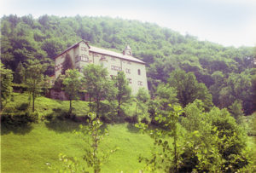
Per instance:
[[[1,136],[11,132],[17,135],[26,135],[33,129],[32,124],[3,124],[1,122]]]

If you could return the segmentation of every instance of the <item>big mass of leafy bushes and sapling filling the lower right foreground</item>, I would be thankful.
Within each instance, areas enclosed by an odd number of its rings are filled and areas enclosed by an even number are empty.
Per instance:
[[[137,124],[161,148],[154,148],[151,159],[140,158],[149,171],[242,172],[252,166],[246,131],[226,109],[204,112],[204,103],[195,100],[184,110],[173,106],[167,116],[158,114],[154,119],[166,128],[148,130],[148,125]]]

